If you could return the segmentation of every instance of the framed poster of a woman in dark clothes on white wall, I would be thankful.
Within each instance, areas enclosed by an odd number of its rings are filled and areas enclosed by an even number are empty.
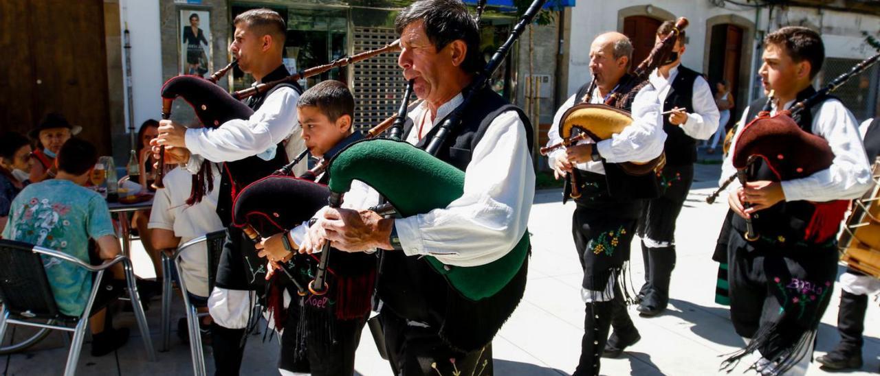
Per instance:
[[[180,74],[204,76],[211,71],[210,12],[180,10]]]

